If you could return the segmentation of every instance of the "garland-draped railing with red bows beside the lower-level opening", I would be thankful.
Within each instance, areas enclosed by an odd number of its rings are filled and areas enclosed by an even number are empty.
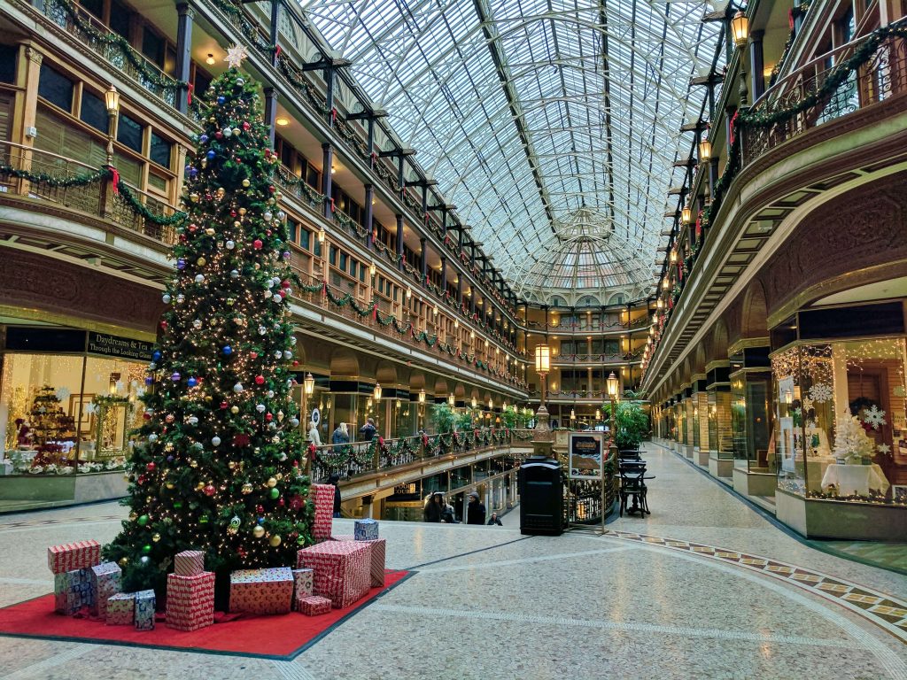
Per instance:
[[[336,473],[340,479],[393,471],[415,462],[456,457],[468,452],[486,452],[511,446],[515,439],[506,428],[482,428],[448,434],[419,434],[399,439],[375,436],[371,442],[309,445],[308,461],[312,478],[327,479]]]

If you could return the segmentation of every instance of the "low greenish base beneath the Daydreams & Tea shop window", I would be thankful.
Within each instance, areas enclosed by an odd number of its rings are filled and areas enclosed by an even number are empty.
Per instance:
[[[65,475],[0,476],[0,499],[13,501],[3,510],[54,508],[94,500],[112,500],[126,495],[124,472],[85,472]]]

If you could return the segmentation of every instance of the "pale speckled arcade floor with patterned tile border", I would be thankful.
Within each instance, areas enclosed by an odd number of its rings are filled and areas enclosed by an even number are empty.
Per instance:
[[[518,512],[503,527],[382,523],[388,567],[418,574],[292,662],[0,637],[0,678],[907,680],[907,645],[808,581],[682,546],[774,559],[898,599],[907,578],[805,547],[673,453],[646,457],[658,478],[652,514],[616,520],[608,536],[522,537]],[[123,514],[102,504],[4,518],[0,606],[52,588],[48,544],[110,539]],[[348,520],[336,525],[351,532]]]

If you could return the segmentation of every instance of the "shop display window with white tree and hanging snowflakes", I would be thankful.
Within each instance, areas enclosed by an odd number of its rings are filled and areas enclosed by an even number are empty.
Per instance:
[[[904,338],[797,344],[772,355],[778,486],[907,504]]]

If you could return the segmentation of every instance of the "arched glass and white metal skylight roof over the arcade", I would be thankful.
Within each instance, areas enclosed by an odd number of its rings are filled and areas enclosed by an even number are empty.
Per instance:
[[[650,292],[713,3],[301,5],[515,292]]]

